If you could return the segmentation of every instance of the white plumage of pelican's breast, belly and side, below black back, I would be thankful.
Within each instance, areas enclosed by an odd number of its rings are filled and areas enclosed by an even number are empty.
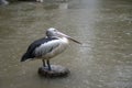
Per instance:
[[[36,47],[35,55],[36,57],[42,56],[44,59],[52,58],[65,51],[67,45],[68,40],[66,37],[53,40]]]

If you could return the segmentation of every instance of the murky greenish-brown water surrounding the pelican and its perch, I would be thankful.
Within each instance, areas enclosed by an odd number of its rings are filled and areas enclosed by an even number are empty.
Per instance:
[[[31,42],[56,28],[82,42],[51,61],[66,78],[41,78],[41,61],[20,63]],[[69,0],[0,7],[0,88],[131,88],[132,1]]]

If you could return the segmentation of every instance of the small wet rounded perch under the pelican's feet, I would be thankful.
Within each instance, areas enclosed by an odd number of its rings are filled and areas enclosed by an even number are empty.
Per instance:
[[[51,65],[52,70],[47,67],[40,67],[38,75],[43,77],[66,77],[69,74],[69,69],[61,65]]]

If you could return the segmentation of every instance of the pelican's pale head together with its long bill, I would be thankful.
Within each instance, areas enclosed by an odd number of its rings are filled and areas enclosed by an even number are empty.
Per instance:
[[[73,41],[73,42],[75,42],[75,43],[81,44],[80,42],[78,42],[78,41],[74,40],[73,37],[70,37],[70,36],[66,35],[66,34],[57,31],[57,30],[54,29],[54,28],[47,29],[46,35],[47,35],[47,37],[66,37],[66,38]]]

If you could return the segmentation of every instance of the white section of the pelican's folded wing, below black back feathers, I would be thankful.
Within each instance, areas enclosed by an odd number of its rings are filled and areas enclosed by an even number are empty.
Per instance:
[[[59,44],[61,44],[59,40],[51,40],[48,42],[45,42],[35,48],[34,55],[36,57],[46,55],[51,53],[53,50],[55,50],[57,46],[59,46]]]

